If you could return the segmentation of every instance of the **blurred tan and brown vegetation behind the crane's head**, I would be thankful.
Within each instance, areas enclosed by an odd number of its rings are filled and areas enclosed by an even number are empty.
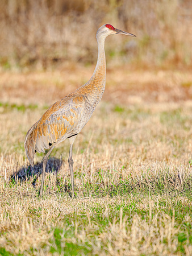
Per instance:
[[[105,23],[137,36],[107,39],[109,66],[190,68],[191,10],[188,0],[1,0],[0,70],[93,64]]]

